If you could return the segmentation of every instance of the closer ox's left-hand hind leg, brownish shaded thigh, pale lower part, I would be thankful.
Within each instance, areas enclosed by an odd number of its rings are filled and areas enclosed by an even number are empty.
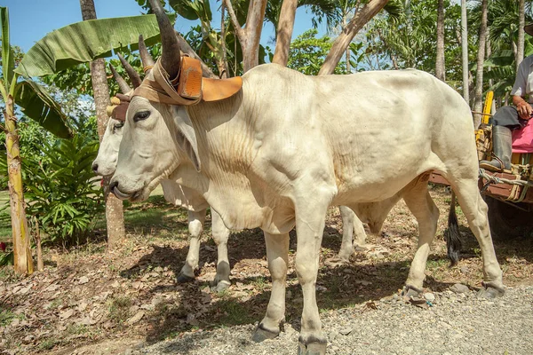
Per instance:
[[[409,276],[405,286],[417,293],[422,292],[426,278],[426,262],[431,243],[437,232],[439,209],[435,205],[429,192],[427,182],[422,180],[403,194],[403,200],[418,221],[418,248],[410,266]]]

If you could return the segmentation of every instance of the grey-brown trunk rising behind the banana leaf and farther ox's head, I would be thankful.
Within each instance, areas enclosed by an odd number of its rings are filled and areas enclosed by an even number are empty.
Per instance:
[[[93,0],[80,0],[84,20],[95,20],[96,10]],[[104,59],[91,61],[91,81],[94,91],[94,104],[98,120],[98,136],[101,141],[107,126],[106,108],[109,105],[106,62]],[[104,179],[104,199],[106,201],[107,248],[118,246],[125,238],[123,201],[109,193],[109,180]]]

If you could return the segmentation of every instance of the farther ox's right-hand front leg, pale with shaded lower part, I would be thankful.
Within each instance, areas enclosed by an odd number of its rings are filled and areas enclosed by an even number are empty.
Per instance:
[[[213,280],[215,291],[225,290],[231,284],[229,282],[229,259],[227,258],[227,239],[229,238],[229,229],[227,229],[220,215],[211,209],[211,228],[213,231],[213,240],[217,244],[218,261],[217,275]]]

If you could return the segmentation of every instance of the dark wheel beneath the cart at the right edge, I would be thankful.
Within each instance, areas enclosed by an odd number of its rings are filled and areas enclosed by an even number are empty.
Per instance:
[[[492,238],[507,240],[513,238],[527,238],[533,235],[533,210],[525,211],[486,196],[489,206],[489,225]],[[529,204],[521,203],[521,208],[528,208]]]

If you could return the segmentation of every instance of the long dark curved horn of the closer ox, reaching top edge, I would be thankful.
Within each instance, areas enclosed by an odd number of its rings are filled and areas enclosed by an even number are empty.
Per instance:
[[[179,65],[181,52],[179,51],[178,38],[174,34],[171,20],[163,10],[159,0],[149,0],[152,5],[152,11],[155,13],[159,32],[161,32],[161,43],[163,45],[163,54],[161,56],[161,65],[168,73],[169,79],[173,80],[179,75]]]

